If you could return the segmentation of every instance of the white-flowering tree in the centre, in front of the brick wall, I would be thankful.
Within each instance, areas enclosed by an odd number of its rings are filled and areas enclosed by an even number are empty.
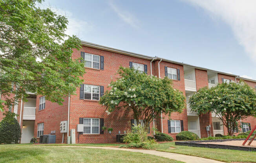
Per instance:
[[[143,120],[144,128],[148,129],[161,112],[170,116],[185,107],[183,92],[173,89],[170,79],[148,76],[133,68],[120,67],[118,73],[120,78],[110,83],[110,91],[99,101],[108,114],[114,110],[132,110],[137,125]]]

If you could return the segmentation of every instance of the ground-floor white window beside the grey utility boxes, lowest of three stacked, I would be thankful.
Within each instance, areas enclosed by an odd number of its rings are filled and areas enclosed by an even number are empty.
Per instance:
[[[84,134],[99,134],[100,133],[99,118],[84,118]]]

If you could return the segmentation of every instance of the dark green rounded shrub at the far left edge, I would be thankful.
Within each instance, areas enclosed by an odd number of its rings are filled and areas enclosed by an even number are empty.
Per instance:
[[[0,122],[0,144],[13,144],[18,143],[21,138],[20,125],[12,112],[5,112],[5,117]]]

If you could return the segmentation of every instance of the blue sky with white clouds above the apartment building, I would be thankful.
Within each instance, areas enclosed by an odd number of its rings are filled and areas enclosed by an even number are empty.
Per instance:
[[[241,2],[46,0],[40,6],[67,16],[66,33],[81,40],[256,79],[256,4]]]

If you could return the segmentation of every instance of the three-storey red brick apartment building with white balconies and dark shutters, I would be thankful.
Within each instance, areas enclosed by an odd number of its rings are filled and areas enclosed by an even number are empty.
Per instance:
[[[56,135],[56,143],[62,143],[62,141],[66,143],[68,136],[71,135],[71,129],[75,129],[75,132],[72,132],[75,134],[75,143],[115,142],[117,134],[124,134],[131,128],[133,114],[119,110],[107,115],[104,107],[99,105],[98,101],[104,91],[108,89],[108,84],[118,77],[116,72],[121,65],[134,67],[159,78],[168,76],[173,81],[173,87],[182,91],[186,96],[186,101],[200,88],[214,87],[222,82],[238,82],[242,79],[256,89],[256,80],[241,78],[238,75],[90,42],[82,41],[82,45],[80,51],[73,52],[74,59],[82,57],[86,61],[84,83],[77,88],[77,95],[65,97],[63,105],[58,105],[45,100],[43,95],[28,92],[27,102],[21,101],[18,105],[6,108],[6,110],[10,109],[20,115],[17,120],[22,129],[21,143],[28,143],[33,137],[39,139],[40,135],[51,133]],[[155,123],[152,122],[150,127],[155,126],[160,132],[169,134],[174,139],[176,134],[183,130],[194,132],[200,138],[215,134],[227,134],[227,129],[223,127],[218,116],[211,113],[198,115],[190,110],[188,104],[181,114],[173,113],[170,121],[164,114],[161,117],[155,120]],[[1,119],[2,113],[0,113]],[[61,121],[66,121],[67,132],[60,132]],[[246,132],[250,130],[250,125],[256,125],[256,118],[248,117],[239,123],[243,124],[243,127],[239,129],[240,132]],[[244,123],[250,123],[250,125]],[[81,124],[83,132],[77,132],[78,124]],[[209,125],[210,130],[207,132],[206,127]],[[102,126],[113,128],[112,133],[110,134],[106,130],[103,132]],[[149,133],[149,135],[152,134],[152,132]]]

